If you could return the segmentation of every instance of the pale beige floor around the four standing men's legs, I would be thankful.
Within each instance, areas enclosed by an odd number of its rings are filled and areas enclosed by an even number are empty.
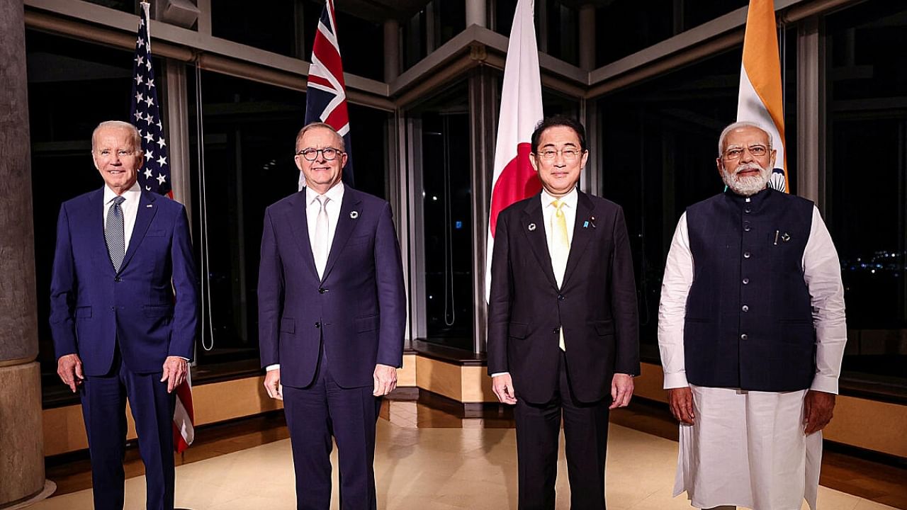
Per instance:
[[[516,508],[516,445],[506,417],[460,419],[420,415],[415,403],[396,402],[378,421],[375,474],[382,509]],[[389,419],[388,419],[389,418]],[[446,422],[444,421],[446,420]],[[487,422],[487,423],[486,423]],[[434,425],[429,425],[430,423]],[[558,508],[568,508],[566,462],[558,477]],[[608,453],[611,509],[688,509],[671,497],[677,443],[612,425]],[[333,459],[336,464],[336,456]],[[336,476],[336,473],[335,473]],[[287,439],[177,467],[176,503],[192,510],[292,509],[293,466]],[[336,482],[335,482],[336,487]],[[141,508],[144,477],[126,481],[126,507]],[[335,488],[336,493],[336,488]],[[334,506],[336,505],[336,494]],[[892,508],[820,487],[822,510]],[[91,492],[58,495],[34,510],[90,509]]]

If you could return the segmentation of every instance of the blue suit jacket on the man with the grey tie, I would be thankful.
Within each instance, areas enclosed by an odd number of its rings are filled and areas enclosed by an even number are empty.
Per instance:
[[[102,188],[60,208],[51,278],[56,356],[77,353],[85,375],[102,376],[119,340],[133,372],[160,372],[168,356],[193,355],[198,279],[186,210],[141,191],[117,273],[104,240],[103,196]]]

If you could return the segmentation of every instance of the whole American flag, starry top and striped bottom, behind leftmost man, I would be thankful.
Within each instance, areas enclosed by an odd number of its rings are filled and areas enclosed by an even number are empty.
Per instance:
[[[151,65],[151,37],[148,25],[149,4],[141,3],[139,30],[135,41],[135,58],[132,65],[132,113],[130,120],[141,134],[141,149],[145,164],[139,172],[139,184],[145,191],[154,191],[173,198],[170,162],[167,158],[167,140],[164,138],[161,110],[158,103],[158,85],[154,83]],[[173,411],[173,449],[182,453],[195,437],[195,413],[192,409],[190,374],[176,388],[176,408]]]

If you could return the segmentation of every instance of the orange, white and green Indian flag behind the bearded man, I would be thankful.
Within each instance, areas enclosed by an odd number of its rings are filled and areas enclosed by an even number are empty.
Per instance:
[[[740,65],[740,91],[737,97],[737,122],[757,123],[772,135],[778,154],[768,185],[790,192],[785,152],[784,96],[781,88],[781,60],[775,5],[772,0],[750,0]],[[780,167],[780,168],[779,168]]]

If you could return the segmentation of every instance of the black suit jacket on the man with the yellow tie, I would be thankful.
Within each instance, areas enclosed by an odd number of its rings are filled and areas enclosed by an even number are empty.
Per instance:
[[[516,397],[532,403],[554,396],[561,326],[568,376],[580,401],[609,396],[615,372],[639,375],[636,286],[623,210],[579,194],[561,289],[551,269],[540,196],[516,202],[498,216],[488,371],[510,372]]]

